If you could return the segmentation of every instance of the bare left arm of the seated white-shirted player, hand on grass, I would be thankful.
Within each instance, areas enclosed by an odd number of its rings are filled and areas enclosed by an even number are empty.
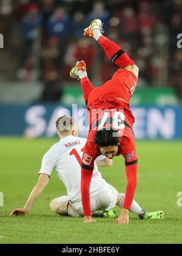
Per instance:
[[[12,213],[10,213],[10,215],[21,215],[21,216],[26,215],[32,208],[35,200],[42,193],[42,190],[44,190],[44,188],[47,186],[49,179],[50,179],[49,175],[46,175],[46,174],[39,175],[38,182],[33,188],[32,192],[30,193],[24,208],[13,210]]]

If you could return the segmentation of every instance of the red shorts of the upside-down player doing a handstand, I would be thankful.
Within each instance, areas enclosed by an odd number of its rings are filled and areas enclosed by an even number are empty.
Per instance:
[[[100,97],[104,97],[107,101],[107,97],[117,97],[130,101],[130,97],[135,91],[137,85],[137,78],[133,72],[126,69],[118,69],[113,74],[111,80],[106,81],[103,86],[94,88],[88,97],[87,106],[92,108],[92,103],[98,102]]]

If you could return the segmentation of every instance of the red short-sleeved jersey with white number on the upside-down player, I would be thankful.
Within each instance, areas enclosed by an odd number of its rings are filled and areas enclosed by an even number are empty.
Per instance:
[[[114,99],[112,100],[114,101]],[[121,100],[117,99],[116,101],[121,102]],[[102,127],[106,127],[106,129],[110,127],[115,128],[120,134],[120,145],[118,146],[116,156],[122,154],[126,162],[135,161],[137,159],[135,153],[135,136],[133,133],[134,117],[130,110],[110,108],[104,110],[97,109],[97,111],[94,111],[90,109],[89,118],[90,131],[84,147],[83,164],[93,167],[96,157],[101,155],[101,151],[94,143],[94,139],[96,131]]]

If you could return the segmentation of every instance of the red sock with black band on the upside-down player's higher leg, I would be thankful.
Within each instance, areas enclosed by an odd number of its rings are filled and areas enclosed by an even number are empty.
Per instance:
[[[124,50],[118,46],[118,44],[110,41],[105,36],[100,36],[98,43],[103,47],[107,57],[119,67],[135,64],[133,60],[131,60],[130,57],[126,54],[126,52],[124,52]]]

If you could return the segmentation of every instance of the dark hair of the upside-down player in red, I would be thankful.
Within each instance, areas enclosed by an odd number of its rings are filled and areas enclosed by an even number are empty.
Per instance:
[[[116,146],[120,142],[120,135],[118,131],[113,130],[98,130],[95,134],[95,144],[101,147]]]

